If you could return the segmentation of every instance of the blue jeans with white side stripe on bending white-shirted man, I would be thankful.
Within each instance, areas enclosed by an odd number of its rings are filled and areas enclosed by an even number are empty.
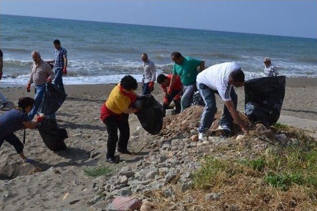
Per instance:
[[[197,84],[197,88],[199,90],[200,95],[202,96],[204,102],[205,102],[205,108],[204,112],[202,114],[202,119],[200,122],[200,127],[198,127],[199,132],[206,132],[211,127],[214,115],[217,112],[217,106],[216,106],[216,99],[214,94],[219,94],[218,91],[212,90],[205,84]],[[230,92],[231,100],[234,104],[234,107],[237,108],[238,103],[238,96],[236,92],[234,91],[234,88],[231,88]],[[231,117],[231,114],[227,107],[223,106],[223,115],[221,117],[221,120],[219,121],[220,126],[228,126],[229,128],[232,127],[233,118]]]

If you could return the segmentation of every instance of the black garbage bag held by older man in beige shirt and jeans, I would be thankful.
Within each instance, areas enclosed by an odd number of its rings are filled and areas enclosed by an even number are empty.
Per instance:
[[[53,83],[46,83],[46,91],[44,93],[43,101],[39,107],[38,113],[44,115],[54,115],[55,112],[64,103],[67,94],[60,90],[58,86]]]

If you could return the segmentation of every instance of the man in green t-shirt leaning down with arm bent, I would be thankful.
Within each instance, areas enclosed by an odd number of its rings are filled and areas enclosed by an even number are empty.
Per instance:
[[[181,98],[181,112],[183,112],[186,108],[190,107],[194,91],[197,89],[197,67],[200,67],[199,72],[203,71],[205,69],[205,62],[202,60],[191,58],[189,56],[183,57],[180,52],[173,52],[172,60],[173,62],[175,62],[175,64],[173,67],[173,75],[167,92],[169,94],[169,92],[172,91],[171,87],[175,82],[176,75],[178,75],[183,84],[183,95]]]

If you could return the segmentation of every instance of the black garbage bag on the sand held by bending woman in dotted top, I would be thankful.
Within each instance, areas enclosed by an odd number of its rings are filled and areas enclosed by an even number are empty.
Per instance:
[[[44,119],[39,124],[39,132],[45,145],[52,151],[67,149],[64,139],[68,138],[67,131],[57,126],[55,118]]]

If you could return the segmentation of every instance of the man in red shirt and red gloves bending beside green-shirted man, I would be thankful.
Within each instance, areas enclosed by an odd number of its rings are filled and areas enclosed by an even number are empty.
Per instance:
[[[171,78],[172,78],[172,74],[167,76],[163,74],[159,74],[157,78],[158,83],[161,85],[165,93],[164,100],[163,100],[163,109],[165,112],[165,110],[168,108],[169,104],[173,100],[175,103],[175,113],[179,114],[181,111],[181,104],[180,104],[181,96],[180,95],[183,89],[183,84],[181,83],[179,76],[176,76],[175,83],[172,85],[172,87],[169,88]],[[171,89],[171,90],[167,90],[167,89]]]

